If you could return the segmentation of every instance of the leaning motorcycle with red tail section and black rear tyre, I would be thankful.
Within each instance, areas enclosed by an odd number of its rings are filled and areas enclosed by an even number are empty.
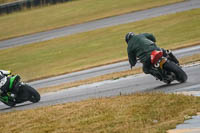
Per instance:
[[[171,51],[167,50],[167,55]],[[170,84],[172,81],[177,80],[183,83],[187,80],[187,74],[182,70],[179,64],[170,60],[170,56],[164,56],[163,51],[154,50],[151,53],[151,63],[154,70],[160,72],[163,77],[163,82]]]

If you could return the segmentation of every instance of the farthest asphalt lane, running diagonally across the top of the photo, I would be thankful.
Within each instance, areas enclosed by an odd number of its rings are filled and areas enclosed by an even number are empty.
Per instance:
[[[147,18],[153,18],[165,14],[172,14],[177,12],[182,12],[186,10],[191,10],[195,8],[200,8],[200,0],[187,0],[185,2],[176,3],[172,5],[152,8],[144,11],[138,11],[134,13],[124,14],[120,16],[109,17],[105,19],[100,19],[96,21],[91,21],[88,23],[68,26],[56,30],[40,32],[32,35],[26,35],[22,37],[17,37],[9,40],[0,41],[0,49],[25,45],[34,42],[40,42],[45,40],[50,40],[58,37],[63,37],[67,35],[72,35],[76,33],[91,31],[99,28],[110,27],[119,24],[126,24],[130,22],[135,22]]]

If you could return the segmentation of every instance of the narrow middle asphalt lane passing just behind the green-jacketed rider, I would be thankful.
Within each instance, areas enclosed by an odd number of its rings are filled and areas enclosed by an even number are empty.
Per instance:
[[[200,53],[200,45],[190,47],[190,48],[175,50],[173,51],[173,53],[178,58]],[[137,64],[136,68],[138,67],[141,67],[140,63]],[[113,72],[125,71],[125,70],[130,70],[128,61],[96,67],[89,70],[74,72],[74,73],[70,73],[66,75],[51,77],[51,78],[47,78],[43,80],[38,80],[38,81],[30,82],[29,84],[33,86],[34,88],[50,87],[50,86],[60,85],[63,83],[74,82],[78,80],[88,79],[92,77],[97,77],[97,76],[101,76],[101,75],[105,75],[105,74],[109,74]]]

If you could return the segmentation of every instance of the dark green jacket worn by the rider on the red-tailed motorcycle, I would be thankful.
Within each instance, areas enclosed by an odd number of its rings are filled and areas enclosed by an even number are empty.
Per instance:
[[[131,68],[135,66],[137,59],[144,63],[150,58],[150,54],[153,50],[159,50],[155,42],[155,37],[149,33],[134,35],[129,40],[127,52]]]

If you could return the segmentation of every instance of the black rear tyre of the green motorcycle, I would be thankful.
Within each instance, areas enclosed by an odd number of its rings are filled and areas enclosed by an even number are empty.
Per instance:
[[[40,101],[40,94],[31,86],[25,85],[27,91],[29,92],[29,101],[32,103],[37,103]]]

